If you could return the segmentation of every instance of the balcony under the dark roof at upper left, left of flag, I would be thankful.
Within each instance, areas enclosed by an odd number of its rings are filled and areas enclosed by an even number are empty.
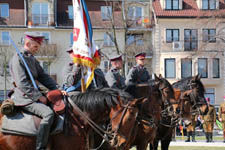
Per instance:
[[[36,15],[32,14],[28,18],[28,26],[29,27],[48,27],[55,26],[54,15],[51,14],[41,14]]]

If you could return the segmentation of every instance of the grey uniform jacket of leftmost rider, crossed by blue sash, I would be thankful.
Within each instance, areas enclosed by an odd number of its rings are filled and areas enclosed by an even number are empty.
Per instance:
[[[57,89],[56,82],[44,72],[38,60],[29,51],[23,49],[21,54],[35,80],[49,90]],[[15,54],[10,62],[10,73],[13,82],[16,84],[12,97],[15,105],[23,106],[30,104],[37,101],[42,96],[41,92],[34,88],[25,65],[18,54]]]

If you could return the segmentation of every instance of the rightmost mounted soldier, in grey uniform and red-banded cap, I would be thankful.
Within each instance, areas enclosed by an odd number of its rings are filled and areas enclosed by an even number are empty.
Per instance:
[[[150,79],[148,70],[144,67],[146,53],[141,52],[135,55],[137,65],[134,66],[126,77],[126,85],[145,83]]]

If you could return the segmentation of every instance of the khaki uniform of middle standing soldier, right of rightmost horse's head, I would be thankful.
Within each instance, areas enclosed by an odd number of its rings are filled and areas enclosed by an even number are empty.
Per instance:
[[[213,142],[213,127],[216,122],[216,109],[213,105],[209,104],[209,111],[206,115],[202,116],[203,128],[206,135],[207,142]]]

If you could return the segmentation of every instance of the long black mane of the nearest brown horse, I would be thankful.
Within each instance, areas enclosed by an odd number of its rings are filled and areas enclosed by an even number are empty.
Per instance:
[[[102,112],[107,108],[116,106],[119,101],[123,104],[132,100],[132,96],[127,92],[113,88],[101,88],[89,90],[85,93],[80,93],[71,96],[72,101],[85,112]]]

